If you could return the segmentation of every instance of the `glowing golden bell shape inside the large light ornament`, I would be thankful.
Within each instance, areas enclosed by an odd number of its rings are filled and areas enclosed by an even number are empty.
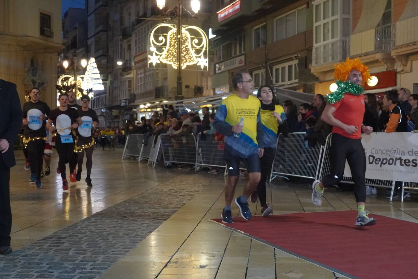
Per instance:
[[[190,34],[188,32],[184,30],[181,32],[181,41],[181,69],[184,69],[187,65],[196,64],[197,60],[192,54]],[[168,46],[160,57],[161,62],[171,64],[174,69],[178,67],[177,42],[177,31],[170,30],[168,32]]]

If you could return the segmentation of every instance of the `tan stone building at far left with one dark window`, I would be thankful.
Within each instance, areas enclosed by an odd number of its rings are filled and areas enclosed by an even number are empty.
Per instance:
[[[0,0],[0,79],[17,85],[20,102],[39,87],[41,100],[56,108],[61,32],[61,1]]]

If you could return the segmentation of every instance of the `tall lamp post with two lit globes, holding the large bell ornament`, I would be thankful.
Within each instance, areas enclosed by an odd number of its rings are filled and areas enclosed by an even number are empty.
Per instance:
[[[183,18],[196,18],[197,12],[200,9],[199,0],[191,0],[191,8],[194,12],[192,14],[186,10],[182,5],[182,0],[178,0],[178,5],[167,11],[166,15],[174,20],[177,18],[177,94],[176,100],[183,100],[183,81],[181,74],[181,27]],[[166,6],[166,0],[157,0],[157,7],[163,9]]]

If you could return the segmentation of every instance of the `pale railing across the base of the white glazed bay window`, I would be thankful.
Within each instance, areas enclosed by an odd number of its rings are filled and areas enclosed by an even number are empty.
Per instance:
[[[348,38],[333,41],[328,44],[314,46],[312,51],[312,66],[343,61],[349,55]]]

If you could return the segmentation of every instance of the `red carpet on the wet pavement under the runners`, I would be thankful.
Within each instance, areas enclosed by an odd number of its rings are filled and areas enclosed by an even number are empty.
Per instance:
[[[355,227],[355,211],[253,216],[215,222],[349,278],[418,278],[418,224],[380,215]]]

